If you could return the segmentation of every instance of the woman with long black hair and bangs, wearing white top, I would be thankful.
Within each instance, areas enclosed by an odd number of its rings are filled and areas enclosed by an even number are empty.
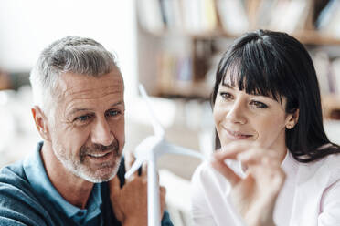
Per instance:
[[[241,36],[219,62],[211,100],[221,148],[194,174],[195,225],[340,225],[340,148],[324,133],[299,41]]]

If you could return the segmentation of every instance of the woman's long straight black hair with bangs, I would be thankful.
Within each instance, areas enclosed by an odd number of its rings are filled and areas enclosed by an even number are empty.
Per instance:
[[[286,113],[299,109],[294,128],[286,129],[286,145],[294,159],[310,162],[340,149],[324,133],[319,85],[313,61],[304,46],[282,32],[257,30],[239,37],[218,64],[211,102],[230,76],[232,86],[248,94],[287,98]],[[236,84],[235,84],[236,83]],[[325,145],[325,146],[324,146]],[[323,147],[324,146],[324,147]]]

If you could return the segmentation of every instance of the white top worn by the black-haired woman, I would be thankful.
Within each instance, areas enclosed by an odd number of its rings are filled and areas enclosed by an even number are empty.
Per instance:
[[[288,152],[282,161],[286,180],[276,201],[277,226],[340,225],[340,155],[300,163]],[[192,211],[197,226],[244,225],[230,210],[230,185],[209,163],[202,163],[192,179]]]

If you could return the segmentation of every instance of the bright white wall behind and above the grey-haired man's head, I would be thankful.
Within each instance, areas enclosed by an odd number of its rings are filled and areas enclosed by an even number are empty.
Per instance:
[[[39,52],[63,36],[88,36],[116,53],[126,98],[137,90],[133,0],[1,0],[0,67],[29,71]]]

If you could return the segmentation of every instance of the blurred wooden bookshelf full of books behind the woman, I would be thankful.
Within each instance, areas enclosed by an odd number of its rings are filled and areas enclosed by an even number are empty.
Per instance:
[[[136,15],[139,80],[152,95],[207,100],[218,59],[232,41],[271,29],[295,36],[311,52],[324,117],[338,118],[340,1],[138,0]]]

